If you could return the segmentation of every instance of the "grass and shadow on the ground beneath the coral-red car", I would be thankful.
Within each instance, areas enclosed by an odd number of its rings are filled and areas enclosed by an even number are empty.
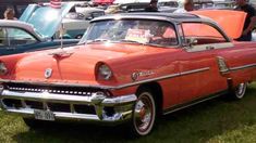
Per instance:
[[[164,116],[148,136],[129,139],[122,130],[81,123],[29,130],[21,117],[0,112],[1,143],[256,143],[256,83],[242,101],[219,98]]]

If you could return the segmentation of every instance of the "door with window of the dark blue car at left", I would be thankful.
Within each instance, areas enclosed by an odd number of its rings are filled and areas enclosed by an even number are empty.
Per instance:
[[[40,42],[28,31],[16,27],[0,28],[0,55],[25,52]]]

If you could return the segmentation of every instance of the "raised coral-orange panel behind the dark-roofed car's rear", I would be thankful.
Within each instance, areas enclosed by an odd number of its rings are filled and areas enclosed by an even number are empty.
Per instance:
[[[214,20],[232,39],[240,38],[246,18],[246,13],[232,10],[200,10],[191,13]]]

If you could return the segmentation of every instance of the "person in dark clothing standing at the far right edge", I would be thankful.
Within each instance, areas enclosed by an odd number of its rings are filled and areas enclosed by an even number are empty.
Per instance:
[[[236,39],[237,41],[251,41],[252,40],[252,31],[256,24],[256,11],[255,8],[247,3],[247,0],[236,0],[236,10],[243,11],[247,13],[242,36]]]

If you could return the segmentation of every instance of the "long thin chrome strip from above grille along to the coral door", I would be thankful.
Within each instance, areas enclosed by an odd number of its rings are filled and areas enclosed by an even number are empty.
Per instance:
[[[204,68],[193,69],[193,70],[171,74],[168,76],[145,79],[145,80],[141,80],[141,81],[132,82],[132,83],[125,83],[125,84],[121,84],[117,87],[99,86],[99,84],[92,86],[92,84],[83,84],[83,83],[65,83],[65,82],[36,82],[36,81],[27,81],[27,80],[7,80],[7,79],[0,79],[0,82],[27,83],[27,84],[38,84],[38,86],[58,86],[58,87],[61,87],[61,86],[62,87],[84,87],[84,88],[98,88],[98,89],[105,89],[105,90],[118,90],[118,89],[129,88],[129,87],[133,87],[133,86],[141,84],[141,83],[147,83],[151,81],[164,80],[164,79],[180,77],[184,75],[202,73],[202,72],[206,72],[209,69],[210,67],[204,67]]]

